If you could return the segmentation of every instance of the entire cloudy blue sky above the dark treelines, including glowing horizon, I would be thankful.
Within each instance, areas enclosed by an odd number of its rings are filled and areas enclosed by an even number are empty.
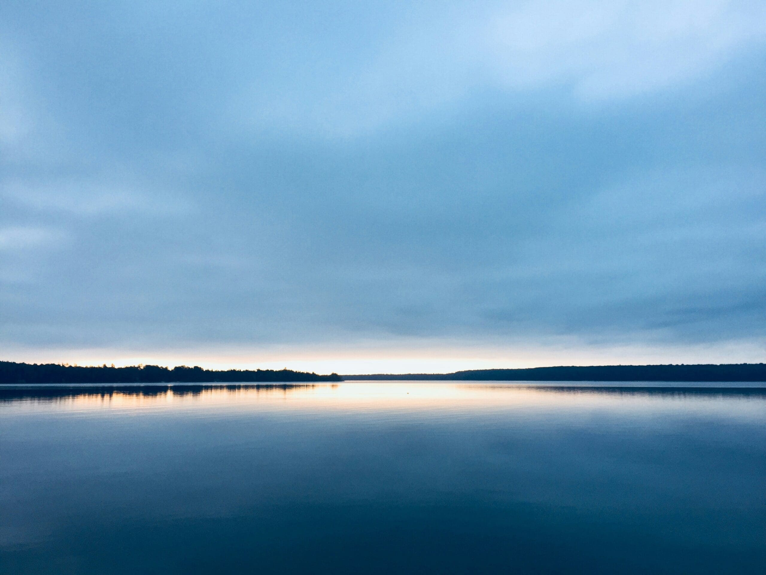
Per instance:
[[[0,3],[0,359],[766,361],[766,3]]]

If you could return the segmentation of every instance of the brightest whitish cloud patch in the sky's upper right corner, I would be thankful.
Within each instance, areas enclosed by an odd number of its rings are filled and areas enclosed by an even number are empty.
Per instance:
[[[584,100],[687,84],[766,45],[762,2],[522,2],[490,27],[503,84],[563,84]]]

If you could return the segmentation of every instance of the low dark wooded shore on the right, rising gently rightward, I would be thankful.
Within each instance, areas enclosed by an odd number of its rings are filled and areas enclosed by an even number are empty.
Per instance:
[[[664,366],[558,366],[519,370],[467,370],[454,373],[406,373],[342,376],[344,380],[447,381],[700,381],[766,382],[766,363]]]

